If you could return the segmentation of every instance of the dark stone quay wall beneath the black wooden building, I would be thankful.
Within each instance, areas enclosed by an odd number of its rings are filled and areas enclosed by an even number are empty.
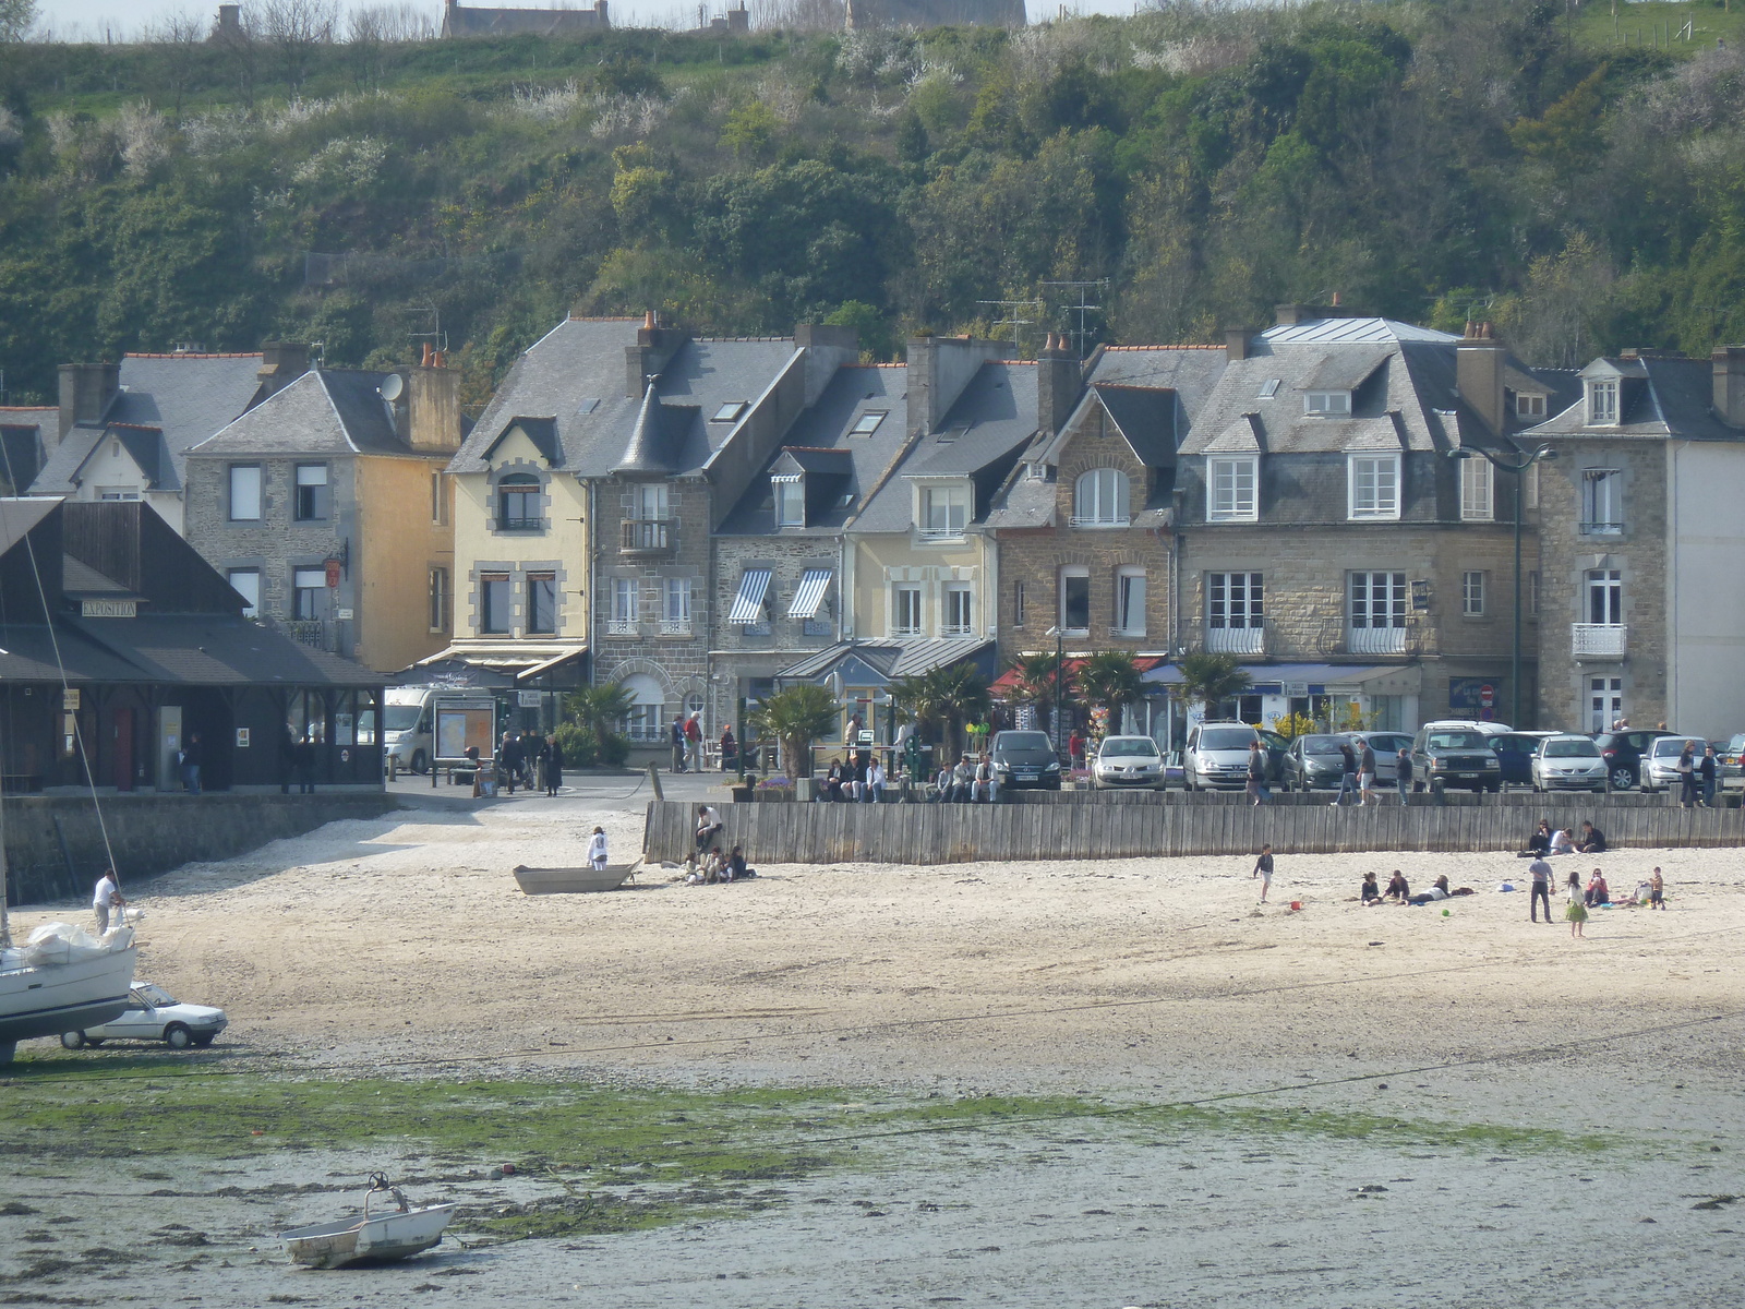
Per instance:
[[[87,796],[7,798],[5,857],[12,904],[79,897],[108,864]],[[314,796],[108,796],[103,819],[124,892],[190,860],[230,859],[281,836],[398,808],[382,791]],[[65,845],[63,845],[65,841]]]

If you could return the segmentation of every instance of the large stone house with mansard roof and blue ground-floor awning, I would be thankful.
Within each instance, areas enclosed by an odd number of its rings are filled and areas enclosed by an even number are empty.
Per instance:
[[[1171,644],[1249,663],[1235,709],[1251,723],[1342,703],[1393,730],[1501,717],[1513,487],[1447,456],[1511,459],[1570,379],[1487,333],[1335,314],[1283,305],[1274,328],[1228,335],[1176,456]],[[1527,632],[1523,705],[1530,613]]]

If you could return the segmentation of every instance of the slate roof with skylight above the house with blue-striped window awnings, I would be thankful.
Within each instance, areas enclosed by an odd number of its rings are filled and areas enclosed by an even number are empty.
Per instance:
[[[839,483],[839,492],[829,504],[806,506],[806,527],[784,527],[782,536],[834,534],[843,524],[866,506],[866,496],[878,487],[892,461],[902,450],[909,433],[909,370],[906,365],[846,365],[825,384],[813,403],[801,414],[785,436],[770,466],[752,478],[750,487],[733,506],[719,532],[768,534],[775,532],[775,504],[770,496],[770,471],[782,463],[787,454],[797,464],[817,464],[827,475],[843,475],[824,464],[831,459],[838,464],[846,459],[848,469]],[[850,436],[860,419],[874,410],[883,410],[885,419],[871,436]],[[831,454],[818,456],[827,450]],[[806,454],[811,452],[811,454]],[[808,480],[808,501],[810,501]],[[841,496],[853,494],[853,501],[841,504]]]

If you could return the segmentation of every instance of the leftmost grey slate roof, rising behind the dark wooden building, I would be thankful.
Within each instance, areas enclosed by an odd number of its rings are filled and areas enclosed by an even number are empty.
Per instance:
[[[147,459],[141,471],[157,490],[181,490],[187,450],[216,433],[253,403],[260,391],[260,354],[124,354],[120,391],[103,422],[80,422],[49,454],[31,492],[66,496],[103,442],[108,424],[157,433],[127,443]],[[120,435],[120,431],[117,431]],[[150,450],[147,449],[150,447]]]

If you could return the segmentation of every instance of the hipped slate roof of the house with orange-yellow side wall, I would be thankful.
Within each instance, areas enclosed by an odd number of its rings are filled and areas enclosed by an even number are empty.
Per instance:
[[[417,454],[394,431],[389,374],[311,368],[195,445],[194,456]]]

